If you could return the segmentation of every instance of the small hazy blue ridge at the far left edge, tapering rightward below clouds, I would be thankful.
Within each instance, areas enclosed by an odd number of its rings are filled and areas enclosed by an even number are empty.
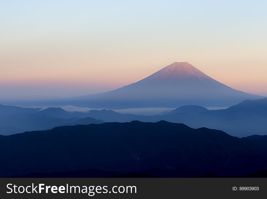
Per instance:
[[[18,106],[8,106],[0,104],[0,118],[16,113],[35,113],[40,110],[41,108],[22,108]]]

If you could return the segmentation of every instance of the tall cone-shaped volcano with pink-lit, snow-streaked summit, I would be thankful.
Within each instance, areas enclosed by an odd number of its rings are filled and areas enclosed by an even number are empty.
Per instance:
[[[136,83],[105,93],[66,98],[54,104],[93,108],[229,107],[245,99],[259,99],[205,75],[188,62],[174,62]],[[47,102],[48,103],[48,102]]]

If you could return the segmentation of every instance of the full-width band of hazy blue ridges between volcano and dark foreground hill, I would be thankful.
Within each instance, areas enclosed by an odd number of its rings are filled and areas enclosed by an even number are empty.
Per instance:
[[[32,109],[30,110],[32,111]],[[252,134],[267,134],[266,110],[267,98],[245,100],[227,109],[211,111],[195,105],[181,106],[173,111],[154,116],[120,114],[106,109],[100,111],[91,110],[85,113],[69,112],[62,108],[47,108],[32,114],[20,112],[3,118],[0,117],[0,134],[7,135],[24,131],[46,130],[62,125],[99,124],[104,121],[130,122],[138,120],[157,122],[165,120],[183,123],[191,128],[218,129],[233,136],[244,137]]]

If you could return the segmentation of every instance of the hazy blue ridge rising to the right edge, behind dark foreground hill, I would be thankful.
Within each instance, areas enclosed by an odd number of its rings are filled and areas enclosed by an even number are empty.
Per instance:
[[[192,128],[213,128],[228,134],[245,137],[267,134],[267,98],[245,100],[227,109],[211,110],[199,114],[165,114],[161,120],[186,124]]]

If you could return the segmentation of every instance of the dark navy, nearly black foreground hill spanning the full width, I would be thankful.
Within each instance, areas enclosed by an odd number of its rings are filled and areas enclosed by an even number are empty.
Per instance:
[[[160,121],[0,136],[0,176],[88,169],[159,177],[237,176],[267,167],[267,139]]]

